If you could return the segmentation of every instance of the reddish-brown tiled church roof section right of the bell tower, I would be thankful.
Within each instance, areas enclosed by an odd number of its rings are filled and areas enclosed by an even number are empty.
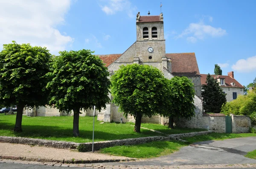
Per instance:
[[[195,53],[166,54],[172,60],[172,74],[179,75],[200,75]]]

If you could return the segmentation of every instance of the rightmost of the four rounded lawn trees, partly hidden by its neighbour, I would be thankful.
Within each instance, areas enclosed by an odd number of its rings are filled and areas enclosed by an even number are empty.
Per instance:
[[[195,90],[194,84],[187,77],[175,76],[169,80],[168,91],[166,101],[168,101],[167,114],[161,114],[165,117],[169,117],[169,128],[173,128],[173,118],[186,118],[191,119],[195,115]]]

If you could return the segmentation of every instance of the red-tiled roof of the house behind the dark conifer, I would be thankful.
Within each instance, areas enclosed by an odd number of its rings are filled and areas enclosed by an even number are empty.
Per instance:
[[[201,84],[206,84],[206,77],[207,77],[207,74],[200,74],[201,75]],[[223,76],[223,75],[218,75],[216,77],[216,75],[211,75],[214,79],[225,79],[225,85],[221,85],[221,87],[241,87],[241,88],[244,88],[243,85],[241,85],[239,82],[236,81],[236,79],[233,79],[232,77],[230,76]],[[235,86],[232,86],[230,83],[235,83]]]

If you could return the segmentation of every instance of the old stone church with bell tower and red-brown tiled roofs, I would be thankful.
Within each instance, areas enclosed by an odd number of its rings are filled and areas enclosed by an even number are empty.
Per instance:
[[[166,53],[166,40],[164,39],[163,14],[159,16],[140,16],[136,18],[136,41],[122,54],[99,55],[102,61],[108,67],[110,76],[120,65],[127,64],[146,64],[152,65],[163,72],[163,75],[171,79],[174,76],[187,76],[194,83],[195,89],[195,107],[196,115],[192,119],[193,125],[186,127],[206,128],[196,125],[195,121],[200,121],[203,115],[203,105],[201,100],[201,76],[198,69],[195,53]],[[168,46],[167,46],[168,48]],[[111,95],[109,95],[111,97]],[[113,98],[111,98],[113,99]],[[110,121],[135,121],[132,116],[125,118],[119,113],[118,107],[112,103],[106,105],[106,109],[97,112],[98,120]],[[49,107],[40,107],[37,110],[24,110],[24,115],[52,116],[67,115],[59,112],[57,109]],[[72,114],[71,114],[72,115]],[[93,115],[93,110],[84,111],[81,115]],[[144,117],[142,122],[165,124],[166,118],[160,115],[154,115],[151,118]],[[195,126],[195,125],[196,126]]]

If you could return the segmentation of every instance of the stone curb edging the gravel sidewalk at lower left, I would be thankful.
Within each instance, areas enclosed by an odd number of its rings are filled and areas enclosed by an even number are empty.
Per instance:
[[[36,162],[41,162],[41,163],[66,163],[66,164],[70,164],[70,163],[75,163],[75,164],[79,164],[79,163],[83,163],[83,164],[87,164],[87,163],[111,163],[111,162],[127,162],[127,161],[137,161],[136,158],[126,158],[126,159],[110,159],[110,160],[104,160],[104,159],[52,159],[52,158],[37,158],[37,157],[23,157],[23,156],[15,156],[15,155],[0,155],[0,159],[5,159],[5,160],[15,160],[15,161],[36,161]]]

